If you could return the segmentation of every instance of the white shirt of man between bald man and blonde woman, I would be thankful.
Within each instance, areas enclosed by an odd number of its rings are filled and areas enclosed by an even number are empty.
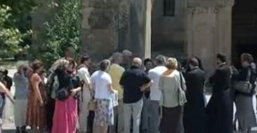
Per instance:
[[[154,69],[150,69],[148,72],[149,78],[151,78],[154,83],[150,88],[150,99],[154,101],[159,101],[162,97],[162,92],[159,90],[159,78],[162,76],[164,71],[168,70],[165,66],[156,66]]]

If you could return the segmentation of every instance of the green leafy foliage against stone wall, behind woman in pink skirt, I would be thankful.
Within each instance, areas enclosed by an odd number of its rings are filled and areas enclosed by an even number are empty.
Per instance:
[[[67,47],[73,47],[79,55],[81,48],[81,1],[60,0],[53,3],[55,14],[49,22],[44,24],[44,43],[40,45],[37,57],[41,59],[47,68],[56,59],[64,56]]]

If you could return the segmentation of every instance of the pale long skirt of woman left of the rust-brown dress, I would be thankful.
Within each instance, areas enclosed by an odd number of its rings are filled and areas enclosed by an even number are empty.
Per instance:
[[[14,118],[15,125],[23,126],[26,125],[27,116],[27,99],[15,99],[14,105]]]

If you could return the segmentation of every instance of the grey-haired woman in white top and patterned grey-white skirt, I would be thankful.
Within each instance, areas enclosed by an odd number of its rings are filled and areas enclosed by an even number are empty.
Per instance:
[[[107,133],[108,126],[114,125],[113,94],[117,90],[112,87],[112,78],[109,73],[110,60],[100,62],[100,70],[91,76],[93,96],[96,102],[93,133]]]

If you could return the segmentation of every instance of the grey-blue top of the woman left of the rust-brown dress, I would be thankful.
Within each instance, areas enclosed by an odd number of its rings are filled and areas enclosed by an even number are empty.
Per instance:
[[[29,94],[29,79],[22,73],[15,73],[13,81],[15,83],[15,99],[27,99]]]

